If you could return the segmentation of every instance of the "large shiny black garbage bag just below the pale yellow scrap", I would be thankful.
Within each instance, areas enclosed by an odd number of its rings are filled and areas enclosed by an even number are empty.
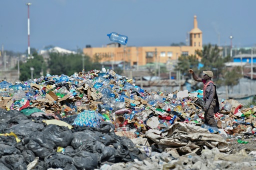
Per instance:
[[[74,138],[70,129],[53,124],[46,126],[42,133],[45,134],[46,139],[53,141],[57,147],[62,148],[69,146]]]

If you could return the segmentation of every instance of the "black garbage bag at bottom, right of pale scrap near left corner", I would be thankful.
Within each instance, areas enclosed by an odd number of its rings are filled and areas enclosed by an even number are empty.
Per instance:
[[[51,154],[44,159],[44,168],[65,168],[67,165],[73,164],[73,158],[60,154],[55,153]]]

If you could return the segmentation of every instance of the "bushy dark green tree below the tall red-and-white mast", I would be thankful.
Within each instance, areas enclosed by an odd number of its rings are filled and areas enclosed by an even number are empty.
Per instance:
[[[46,73],[46,63],[43,60],[43,57],[41,55],[38,55],[36,52],[32,54],[34,57],[33,59],[27,59],[26,62],[21,62],[19,66],[20,70],[20,76],[19,80],[21,81],[27,81],[31,78],[31,71],[30,67],[33,67],[33,77],[39,78],[43,73]],[[15,67],[17,69],[17,65]]]

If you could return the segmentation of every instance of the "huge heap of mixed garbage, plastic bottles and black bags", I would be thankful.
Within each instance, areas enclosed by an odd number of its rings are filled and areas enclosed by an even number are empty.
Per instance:
[[[180,159],[174,156],[194,158],[203,149],[230,154],[227,139],[254,135],[255,106],[222,100],[213,128],[203,124],[202,105],[202,90],[146,91],[104,68],[2,81],[0,166],[113,170],[119,163],[162,169]]]

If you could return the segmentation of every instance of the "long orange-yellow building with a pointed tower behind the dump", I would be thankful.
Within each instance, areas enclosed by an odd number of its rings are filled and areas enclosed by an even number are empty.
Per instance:
[[[118,63],[127,62],[130,66],[141,66],[147,63],[169,63],[177,60],[181,55],[191,55],[195,50],[202,48],[202,31],[197,27],[196,16],[193,20],[193,29],[189,32],[189,46],[122,46],[118,43],[107,44],[106,47],[86,47],[83,53],[89,57],[96,55],[100,62]]]

